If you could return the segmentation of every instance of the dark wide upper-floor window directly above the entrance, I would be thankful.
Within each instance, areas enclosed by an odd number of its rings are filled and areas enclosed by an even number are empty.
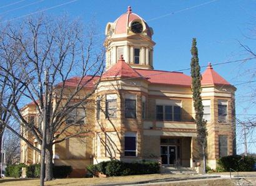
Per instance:
[[[157,105],[156,106],[157,120],[165,121],[180,121],[181,108],[180,106],[172,105]]]

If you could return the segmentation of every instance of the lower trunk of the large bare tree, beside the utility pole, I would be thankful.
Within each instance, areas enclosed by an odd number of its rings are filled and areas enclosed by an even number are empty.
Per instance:
[[[52,145],[46,144],[46,176],[44,177],[44,180],[46,181],[54,179],[52,157],[53,157]]]

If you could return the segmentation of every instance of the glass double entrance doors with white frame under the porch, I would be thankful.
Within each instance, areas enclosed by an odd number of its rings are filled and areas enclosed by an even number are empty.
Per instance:
[[[176,164],[176,146],[160,146],[162,165]]]

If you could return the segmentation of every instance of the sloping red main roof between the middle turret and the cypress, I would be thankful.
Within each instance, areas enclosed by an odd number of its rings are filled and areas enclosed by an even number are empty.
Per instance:
[[[182,72],[168,72],[164,70],[144,70],[135,69],[150,83],[159,83],[165,85],[190,86],[191,78]]]

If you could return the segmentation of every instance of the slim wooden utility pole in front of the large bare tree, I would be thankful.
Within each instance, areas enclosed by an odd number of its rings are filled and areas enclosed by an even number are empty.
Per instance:
[[[46,127],[47,127],[47,101],[48,101],[48,83],[49,83],[49,72],[46,68],[44,70],[44,86],[45,86],[45,92],[44,92],[44,108],[43,108],[43,122],[42,122],[42,147],[41,147],[41,172],[40,172],[40,186],[44,186],[44,177],[46,174],[46,164],[45,164],[45,158],[46,158]]]

